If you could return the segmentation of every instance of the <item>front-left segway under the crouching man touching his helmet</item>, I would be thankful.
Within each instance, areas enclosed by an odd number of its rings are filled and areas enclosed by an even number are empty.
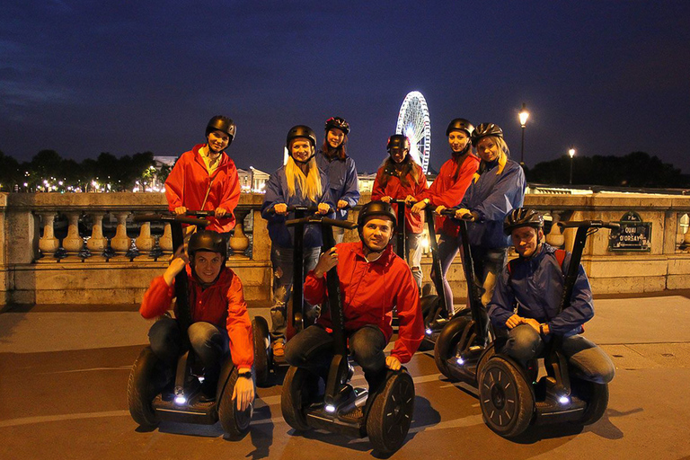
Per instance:
[[[192,214],[194,212],[192,211]],[[199,213],[203,215],[203,213]],[[205,219],[166,214],[135,216],[135,222],[169,222],[173,234],[173,247],[183,242],[181,224],[205,227]],[[187,292],[187,270],[175,277],[175,305],[177,321],[184,345],[175,369],[168,368],[158,359],[150,346],[141,351],[129,373],[127,399],[129,413],[142,428],[154,429],[161,420],[185,423],[215,424],[218,420],[230,439],[243,438],[252,420],[252,404],[245,411],[238,411],[233,401],[237,369],[230,356],[223,358],[218,378],[216,398],[208,401],[200,392],[204,371],[196,362],[186,334],[191,324]]]

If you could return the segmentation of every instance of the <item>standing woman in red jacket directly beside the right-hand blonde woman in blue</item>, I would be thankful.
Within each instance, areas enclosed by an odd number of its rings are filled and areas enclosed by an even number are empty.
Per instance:
[[[419,214],[422,209],[432,205],[436,207],[436,231],[438,238],[438,257],[443,271],[443,288],[446,293],[446,309],[448,317],[455,313],[453,306],[453,291],[446,279],[450,264],[456,258],[460,248],[458,234],[459,226],[450,217],[440,216],[446,208],[455,208],[464,197],[464,192],[470,186],[474,173],[479,168],[479,158],[472,153],[472,136],[474,127],[467,119],[453,119],[448,124],[446,136],[451,148],[450,159],[441,166],[436,180],[429,190],[420,195],[409,197],[412,213]]]

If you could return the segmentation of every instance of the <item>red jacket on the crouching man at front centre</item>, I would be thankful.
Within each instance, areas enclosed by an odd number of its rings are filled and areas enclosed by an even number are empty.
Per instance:
[[[408,362],[424,338],[420,293],[410,267],[398,257],[390,245],[376,261],[364,257],[362,243],[337,244],[338,277],[341,280],[345,330],[357,331],[374,324],[384,332],[386,341],[393,335],[393,307],[396,307],[400,328],[391,356]],[[318,279],[314,270],[306,275],[305,300],[312,305],[328,305],[325,276]],[[317,323],[332,328],[328,308],[322,309]]]

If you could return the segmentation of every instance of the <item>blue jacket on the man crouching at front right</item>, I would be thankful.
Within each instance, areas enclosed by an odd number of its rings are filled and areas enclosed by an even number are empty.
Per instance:
[[[579,333],[582,324],[594,316],[592,289],[581,264],[570,305],[558,313],[565,281],[563,270],[568,270],[571,253],[566,254],[562,267],[559,267],[555,251],[549,244],[542,243],[541,250],[534,256],[528,259],[520,257],[512,262],[510,273],[508,267],[503,269],[487,305],[495,328],[507,329],[506,321],[516,307],[518,315],[548,323],[550,332],[564,336]]]

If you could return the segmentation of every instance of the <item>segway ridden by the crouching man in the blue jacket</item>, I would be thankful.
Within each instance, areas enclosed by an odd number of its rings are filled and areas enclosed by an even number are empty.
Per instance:
[[[599,228],[617,229],[600,220],[559,223],[577,228],[571,262],[563,285],[559,312],[570,303],[578,278],[579,262],[588,234]],[[591,232],[593,230],[594,232]],[[529,368],[500,352],[505,340],[497,340],[484,352],[478,369],[480,405],[485,423],[504,438],[515,438],[530,425],[571,422],[588,425],[599,420],[608,405],[608,384],[596,384],[571,376],[562,352],[562,337],[554,335],[544,354],[546,376],[535,381],[536,363]]]

